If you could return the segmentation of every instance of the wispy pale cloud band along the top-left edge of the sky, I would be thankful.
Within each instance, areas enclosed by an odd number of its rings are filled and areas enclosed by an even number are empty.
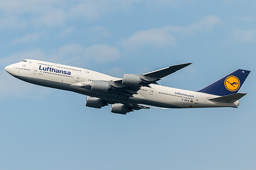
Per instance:
[[[106,13],[126,11],[136,3],[172,5],[176,0],[9,0],[0,1],[0,28],[31,25],[56,27],[77,18],[96,19]],[[11,22],[8,22],[8,20]],[[3,24],[4,23],[4,24]]]

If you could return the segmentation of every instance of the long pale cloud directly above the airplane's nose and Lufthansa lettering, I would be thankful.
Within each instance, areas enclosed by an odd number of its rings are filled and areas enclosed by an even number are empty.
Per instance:
[[[0,65],[7,66],[24,59],[38,59],[49,62],[63,62],[80,65],[87,61],[107,63],[119,59],[121,56],[118,48],[105,44],[82,46],[79,44],[66,44],[56,50],[45,52],[41,49],[19,51],[6,58],[0,59]]]

